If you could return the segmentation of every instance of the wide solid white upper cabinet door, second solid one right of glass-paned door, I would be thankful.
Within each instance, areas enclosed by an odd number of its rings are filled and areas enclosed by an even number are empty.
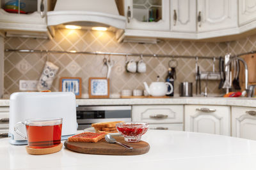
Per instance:
[[[237,0],[198,0],[197,2],[199,32],[237,27]]]

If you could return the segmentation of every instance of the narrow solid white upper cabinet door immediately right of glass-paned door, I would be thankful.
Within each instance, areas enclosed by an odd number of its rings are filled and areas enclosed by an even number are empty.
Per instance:
[[[196,31],[196,0],[172,0],[170,13],[172,31]]]

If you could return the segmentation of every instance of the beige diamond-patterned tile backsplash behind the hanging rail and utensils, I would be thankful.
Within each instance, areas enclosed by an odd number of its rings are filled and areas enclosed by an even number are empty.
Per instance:
[[[256,39],[256,36],[254,36]],[[248,40],[246,40],[248,41]],[[240,43],[238,42],[240,45]],[[233,43],[230,43],[233,46]],[[168,55],[191,56],[220,56],[225,55],[227,43],[204,43],[194,41],[161,41],[157,45],[138,43],[117,43],[113,32],[81,31],[59,29],[52,40],[31,38],[6,38],[5,48],[34,49],[34,50],[77,50],[102,51],[124,53],[157,53]],[[231,48],[231,47],[230,47]],[[234,45],[236,50],[236,45]],[[109,56],[106,56],[107,58]],[[168,70],[168,61],[171,58],[143,57],[147,64],[147,73],[127,73],[125,71],[125,56],[110,56],[116,61],[110,76],[111,94],[119,94],[122,89],[144,89],[143,81],[156,81],[157,75],[164,81]],[[82,93],[88,93],[88,78],[106,76],[107,67],[104,66],[103,55],[86,55],[72,53],[19,53],[5,52],[4,57],[4,94],[19,91],[19,80],[38,80],[45,61],[49,60],[60,67],[58,76],[52,84],[52,91],[59,90],[59,80],[63,76],[78,76],[83,80]],[[139,60],[139,57],[129,57],[129,60]],[[179,83],[191,81],[195,92],[195,58],[177,59],[177,80],[175,94],[179,94]],[[212,70],[212,60],[200,59],[201,71]],[[216,60],[218,70],[218,60]],[[209,81],[209,93],[220,94],[219,81]],[[205,81],[202,81],[202,90]]]

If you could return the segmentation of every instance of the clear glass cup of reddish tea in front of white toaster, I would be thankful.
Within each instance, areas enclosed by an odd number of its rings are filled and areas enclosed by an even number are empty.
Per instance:
[[[29,148],[51,148],[61,142],[62,118],[31,118],[18,122],[14,131],[28,140]],[[26,126],[26,135],[19,131],[20,125]]]

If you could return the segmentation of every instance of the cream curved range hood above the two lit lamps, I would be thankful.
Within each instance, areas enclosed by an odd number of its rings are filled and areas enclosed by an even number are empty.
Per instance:
[[[47,12],[47,25],[115,27],[125,29],[125,17],[119,15],[115,0],[57,0],[54,11]]]

